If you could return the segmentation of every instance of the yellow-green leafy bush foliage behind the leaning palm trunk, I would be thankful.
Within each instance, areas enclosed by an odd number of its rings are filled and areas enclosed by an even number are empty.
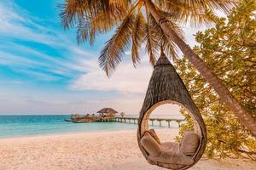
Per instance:
[[[215,27],[197,32],[195,52],[224,81],[230,92],[256,116],[256,2],[242,0],[228,20],[209,16]],[[224,105],[212,87],[187,59],[177,61],[178,71],[207,125],[207,157],[256,157],[256,139]],[[183,123],[180,133],[191,128]]]

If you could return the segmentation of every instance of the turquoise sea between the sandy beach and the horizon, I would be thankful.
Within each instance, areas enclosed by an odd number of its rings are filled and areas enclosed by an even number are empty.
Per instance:
[[[137,117],[135,115],[125,115]],[[150,116],[151,117],[151,116]],[[153,116],[161,118],[181,118],[178,116]],[[24,115],[24,116],[0,116],[0,139],[23,136],[38,136],[55,133],[87,133],[87,132],[108,132],[137,129],[133,122],[90,122],[73,123],[65,122],[70,115]],[[148,122],[150,125],[151,122]],[[154,122],[154,128],[166,128],[167,124]],[[177,122],[171,122],[172,128],[177,128]]]

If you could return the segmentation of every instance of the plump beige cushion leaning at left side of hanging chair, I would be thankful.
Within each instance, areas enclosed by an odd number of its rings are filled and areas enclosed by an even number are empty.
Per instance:
[[[150,156],[160,156],[160,144],[154,140],[148,131],[144,133],[141,144]]]

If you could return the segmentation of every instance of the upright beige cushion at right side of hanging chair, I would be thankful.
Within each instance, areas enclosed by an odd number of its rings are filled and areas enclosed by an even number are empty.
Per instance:
[[[195,154],[199,145],[198,134],[187,130],[183,133],[183,138],[180,145],[180,151],[186,156],[192,156]]]

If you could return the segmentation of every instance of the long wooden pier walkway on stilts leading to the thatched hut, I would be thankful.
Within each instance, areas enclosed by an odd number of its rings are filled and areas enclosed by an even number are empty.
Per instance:
[[[128,123],[134,123],[137,124],[138,118],[137,117],[114,117],[113,120],[114,122],[128,122]],[[154,122],[159,122],[159,126],[162,126],[162,122],[167,122],[168,127],[171,127],[170,122],[177,122],[178,127],[180,127],[180,123],[184,122],[184,119],[167,119],[167,118],[150,118],[149,122],[151,122],[151,126],[154,126]]]

